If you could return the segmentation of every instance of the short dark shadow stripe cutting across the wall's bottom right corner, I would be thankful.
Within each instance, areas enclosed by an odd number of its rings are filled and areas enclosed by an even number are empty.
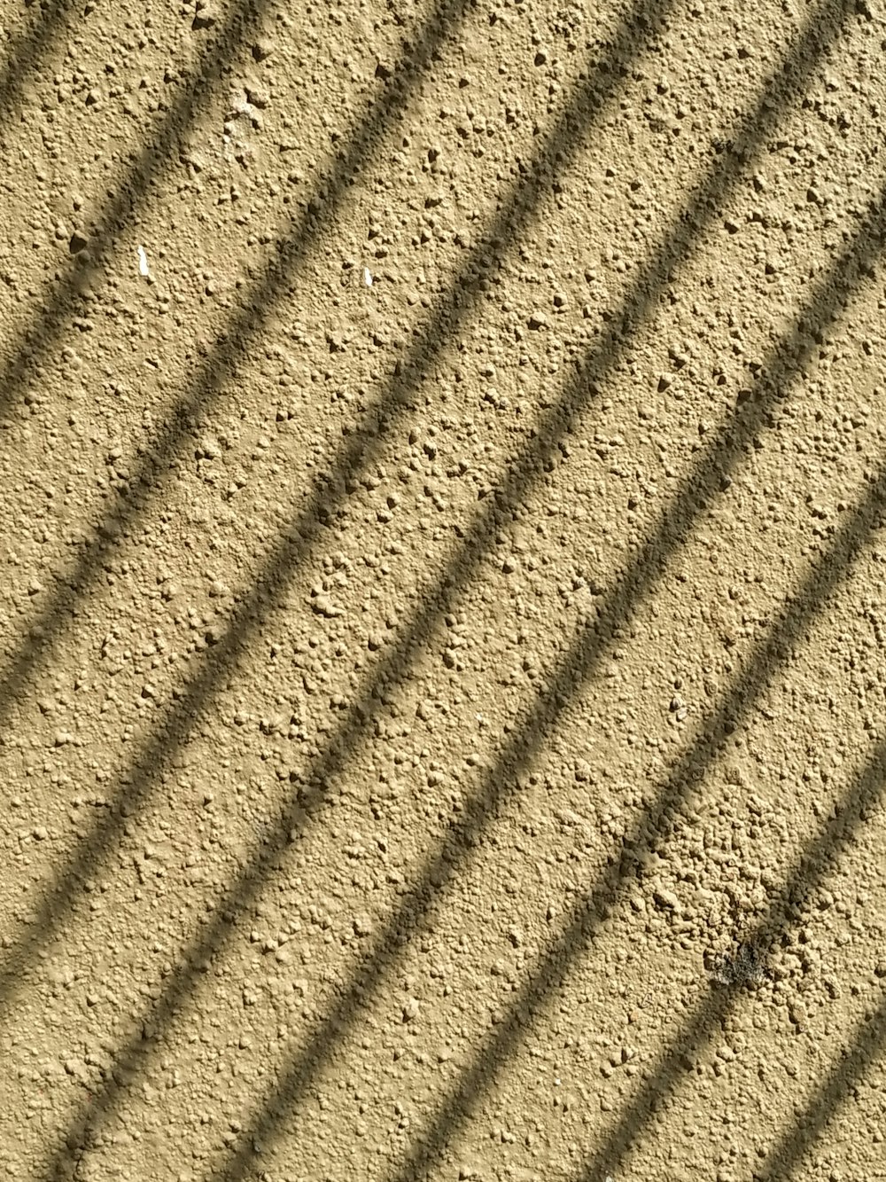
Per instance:
[[[881,753],[886,755],[886,751]],[[762,1167],[754,1170],[754,1182],[781,1182],[790,1176],[791,1170],[809,1151],[813,1142],[823,1131],[836,1108],[846,1098],[846,1092],[854,1086],[869,1064],[882,1053],[886,1046],[886,996],[873,1013],[868,1013],[856,1025],[851,1040],[851,1050],[834,1064],[815,1095],[807,1102],[802,1115],[794,1122],[794,1128],[767,1154]],[[868,1177],[875,1175],[869,1174]]]

